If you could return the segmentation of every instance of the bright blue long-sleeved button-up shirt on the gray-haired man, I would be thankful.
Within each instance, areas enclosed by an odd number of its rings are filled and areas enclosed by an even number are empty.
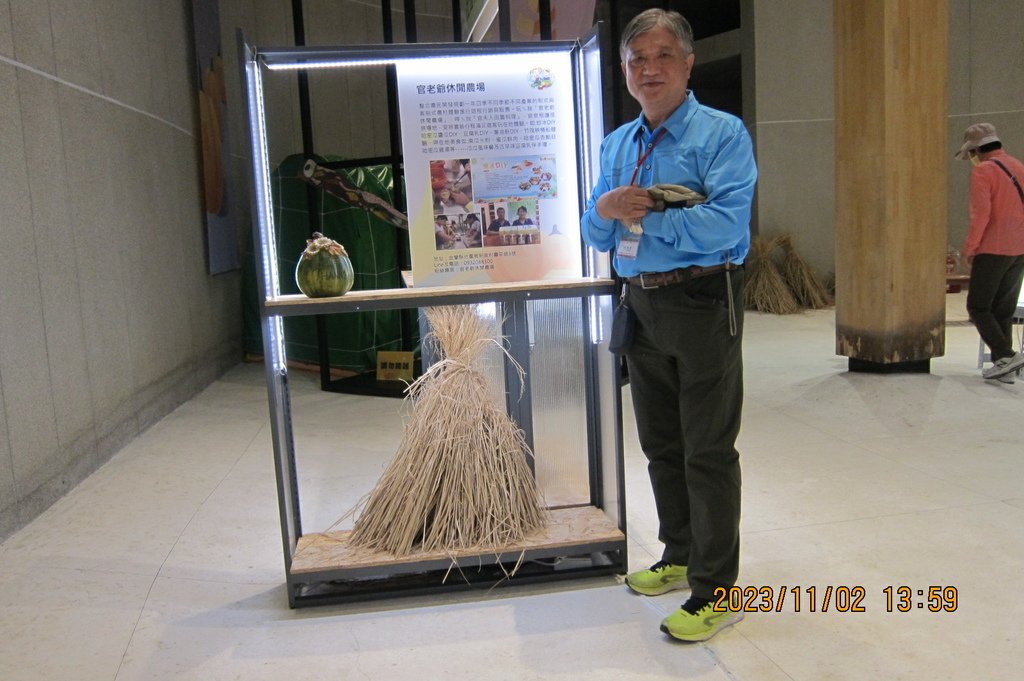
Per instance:
[[[708,197],[693,208],[648,213],[636,258],[614,259],[623,276],[669,271],[689,265],[741,263],[751,247],[751,203],[757,166],[751,136],[735,116],[700,104],[692,92],[664,126],[637,176],[637,184],[682,184]],[[654,131],[641,115],[601,142],[601,170],[581,219],[584,241],[599,251],[618,245],[628,228],[597,213],[598,198],[629,184],[640,154]],[[639,141],[638,141],[639,140]]]

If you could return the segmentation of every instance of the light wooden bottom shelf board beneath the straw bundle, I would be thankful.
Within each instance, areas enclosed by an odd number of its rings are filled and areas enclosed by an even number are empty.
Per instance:
[[[407,556],[394,556],[382,551],[348,545],[350,530],[303,535],[292,557],[291,574],[309,574],[332,570],[367,570],[388,568],[400,571],[403,565],[413,568],[422,563],[453,562],[462,558],[488,556],[515,560],[523,552],[551,551],[572,554],[573,547],[625,542],[626,536],[604,512],[593,506],[552,509],[547,526],[532,533],[524,541],[507,546],[477,547],[453,552],[415,551]],[[554,555],[552,553],[551,555]],[[501,558],[504,556],[504,558]]]

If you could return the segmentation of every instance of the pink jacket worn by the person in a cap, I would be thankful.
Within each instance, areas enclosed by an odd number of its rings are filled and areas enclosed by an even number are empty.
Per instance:
[[[1024,163],[1002,150],[971,171],[971,224],[964,241],[964,255],[1024,255],[1024,202],[1017,187],[992,159],[998,160],[1024,187]]]

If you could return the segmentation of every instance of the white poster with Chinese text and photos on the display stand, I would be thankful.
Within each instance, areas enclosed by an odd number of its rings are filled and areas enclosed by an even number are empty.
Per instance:
[[[570,53],[396,69],[416,285],[580,278]]]

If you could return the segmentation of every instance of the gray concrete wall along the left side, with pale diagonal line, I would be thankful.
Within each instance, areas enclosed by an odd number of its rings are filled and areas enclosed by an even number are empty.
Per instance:
[[[241,356],[186,7],[0,0],[0,538]]]

